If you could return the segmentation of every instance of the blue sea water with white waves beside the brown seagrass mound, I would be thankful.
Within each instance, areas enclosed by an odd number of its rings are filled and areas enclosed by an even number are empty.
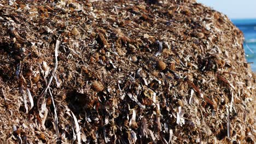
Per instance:
[[[251,68],[256,72],[256,19],[233,19],[231,20],[245,35],[243,47],[246,59],[251,63]]]

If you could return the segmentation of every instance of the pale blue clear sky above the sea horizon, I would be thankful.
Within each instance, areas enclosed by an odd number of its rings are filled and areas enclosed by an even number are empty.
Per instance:
[[[256,18],[256,0],[197,0],[230,19]]]

